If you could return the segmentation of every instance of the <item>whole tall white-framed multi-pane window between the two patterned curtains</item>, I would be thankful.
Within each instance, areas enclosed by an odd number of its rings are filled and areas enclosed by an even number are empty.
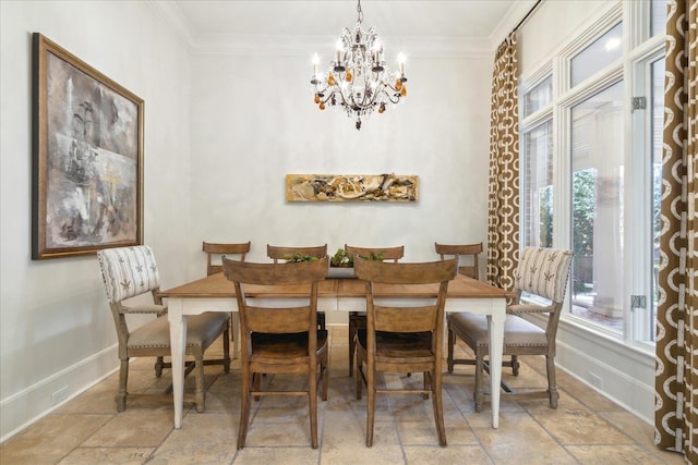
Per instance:
[[[530,70],[520,89],[521,245],[574,250],[563,321],[648,352],[658,305],[665,9],[666,0],[609,5]]]

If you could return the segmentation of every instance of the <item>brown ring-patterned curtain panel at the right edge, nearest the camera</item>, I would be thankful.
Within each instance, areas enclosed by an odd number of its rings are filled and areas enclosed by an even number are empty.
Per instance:
[[[698,464],[698,0],[666,19],[662,234],[654,382],[655,443]]]

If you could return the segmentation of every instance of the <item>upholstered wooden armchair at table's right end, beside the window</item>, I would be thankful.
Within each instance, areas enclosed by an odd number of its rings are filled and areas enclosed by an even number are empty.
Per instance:
[[[507,315],[504,322],[504,355],[512,355],[514,375],[518,376],[518,356],[544,355],[547,370],[547,389],[544,391],[514,392],[505,382],[502,382],[504,394],[514,399],[547,397],[550,406],[557,408],[557,384],[555,379],[555,338],[557,323],[562,311],[563,299],[571,264],[571,252],[555,249],[526,247],[521,253],[519,265],[514,272],[513,303],[507,305]],[[521,294],[527,293],[535,302],[521,303]],[[539,302],[546,302],[540,304]],[[546,314],[545,328],[524,319],[526,314]],[[468,360],[453,359],[452,340],[460,338],[476,354],[476,412],[482,409],[484,392],[482,390],[483,369],[489,367],[484,357],[490,353],[490,332],[488,319],[484,315],[470,313],[448,314],[448,371],[453,372],[454,364],[468,363]],[[503,364],[506,365],[506,364]]]

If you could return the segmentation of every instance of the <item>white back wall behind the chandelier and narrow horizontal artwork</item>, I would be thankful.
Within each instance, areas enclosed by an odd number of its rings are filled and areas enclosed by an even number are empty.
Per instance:
[[[311,51],[194,57],[192,276],[202,240],[251,240],[256,260],[267,243],[405,244],[406,259],[429,260],[434,241],[484,241],[492,59],[411,57],[406,100],[357,131],[313,103]],[[390,172],[419,175],[418,203],[286,201],[288,173]]]

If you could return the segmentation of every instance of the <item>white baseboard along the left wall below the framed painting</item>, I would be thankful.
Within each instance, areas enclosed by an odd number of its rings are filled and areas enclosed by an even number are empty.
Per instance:
[[[118,369],[119,354],[115,344],[3,399],[0,401],[0,443]]]

